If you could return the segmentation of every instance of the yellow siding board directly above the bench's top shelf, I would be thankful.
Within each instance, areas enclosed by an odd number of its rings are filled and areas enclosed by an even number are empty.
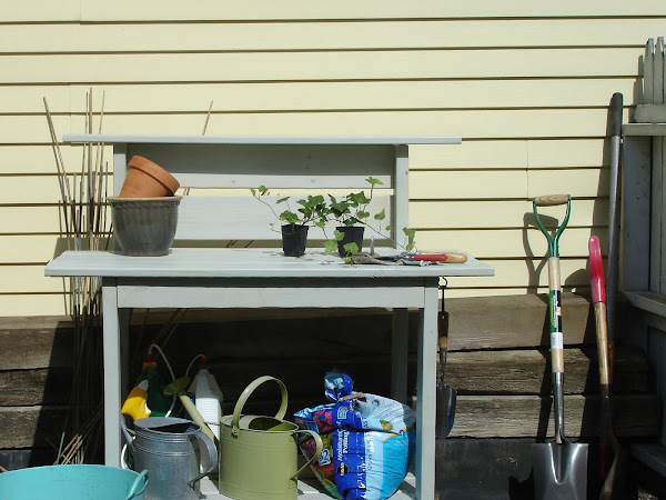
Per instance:
[[[213,114],[208,136],[462,136],[496,138],[594,138],[606,133],[605,109],[386,111]],[[56,117],[59,137],[85,130],[82,116]],[[201,114],[104,116],[107,133],[200,134]],[[0,116],[1,143],[50,143],[38,116]],[[455,148],[455,146],[451,146]]]

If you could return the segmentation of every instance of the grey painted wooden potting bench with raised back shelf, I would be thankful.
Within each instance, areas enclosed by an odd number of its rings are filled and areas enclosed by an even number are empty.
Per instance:
[[[270,211],[248,188],[369,189],[383,181],[374,210],[385,209],[400,233],[407,227],[408,144],[454,144],[456,137],[169,137],[65,136],[65,142],[113,144],[113,192],[128,160],[147,157],[190,189],[218,188],[212,196],[185,197],[176,241],[164,257],[68,251],[48,263],[47,276],[101,277],[104,349],[105,462],[120,462],[120,406],[127,393],[130,308],[391,308],[394,311],[392,396],[406,400],[407,309],[420,311],[415,494],[434,498],[435,388],[440,277],[493,276],[470,256],[465,263],[349,266],[310,248],[287,258],[280,248],[205,248],[210,241],[276,240]],[[241,189],[242,196],[230,194]],[[395,238],[396,233],[392,234]],[[316,230],[309,241],[321,238]],[[205,241],[205,243],[196,243]],[[380,248],[391,240],[377,238]]]

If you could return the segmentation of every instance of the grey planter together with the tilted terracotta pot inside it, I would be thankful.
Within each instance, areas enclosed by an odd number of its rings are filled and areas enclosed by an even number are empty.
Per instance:
[[[117,250],[125,256],[165,256],[178,226],[180,183],[159,164],[134,156],[118,197],[109,197]]]

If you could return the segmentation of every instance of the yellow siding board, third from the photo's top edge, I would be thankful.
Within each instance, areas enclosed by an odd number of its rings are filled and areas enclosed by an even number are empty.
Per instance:
[[[6,83],[637,77],[640,53],[604,48],[43,54],[6,56],[2,66]]]

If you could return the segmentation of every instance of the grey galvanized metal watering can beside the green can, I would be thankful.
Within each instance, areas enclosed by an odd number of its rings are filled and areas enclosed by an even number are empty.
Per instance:
[[[124,433],[135,469],[148,469],[147,500],[199,500],[199,481],[218,467],[215,443],[201,427],[185,419],[153,417],[135,420],[134,432],[133,440]],[[208,463],[203,472],[202,461]]]

